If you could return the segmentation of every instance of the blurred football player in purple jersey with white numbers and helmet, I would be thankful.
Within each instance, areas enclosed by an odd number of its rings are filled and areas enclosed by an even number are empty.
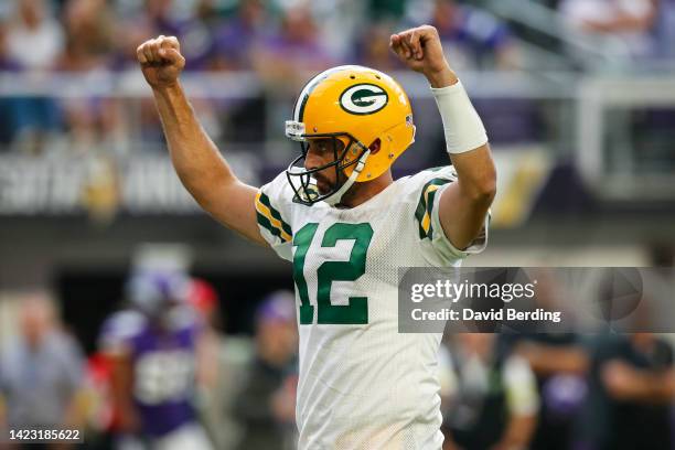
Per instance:
[[[111,361],[113,429],[117,448],[210,449],[193,406],[201,325],[185,304],[188,279],[173,272],[131,277],[133,309],[104,324],[101,346]]]

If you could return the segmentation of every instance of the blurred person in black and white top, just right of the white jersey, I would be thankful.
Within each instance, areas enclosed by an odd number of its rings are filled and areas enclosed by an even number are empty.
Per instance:
[[[539,399],[527,362],[515,354],[500,355],[494,334],[454,338],[441,357],[443,449],[528,448]]]

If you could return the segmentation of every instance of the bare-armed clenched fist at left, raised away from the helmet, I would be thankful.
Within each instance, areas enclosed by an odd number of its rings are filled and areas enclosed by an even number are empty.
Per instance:
[[[160,35],[143,42],[136,50],[143,76],[153,89],[171,87],[185,67],[181,45],[174,36]]]

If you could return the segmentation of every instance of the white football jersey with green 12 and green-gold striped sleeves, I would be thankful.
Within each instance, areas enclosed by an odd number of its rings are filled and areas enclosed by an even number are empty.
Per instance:
[[[353,208],[293,202],[285,173],[256,197],[260,232],[293,264],[299,449],[440,449],[441,334],[398,333],[398,268],[460,265],[438,217],[451,167],[395,181]]]

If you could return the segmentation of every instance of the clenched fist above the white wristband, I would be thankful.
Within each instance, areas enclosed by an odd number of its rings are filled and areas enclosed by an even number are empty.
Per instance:
[[[433,26],[421,25],[392,34],[389,47],[409,68],[426,75],[432,86],[457,82]]]

